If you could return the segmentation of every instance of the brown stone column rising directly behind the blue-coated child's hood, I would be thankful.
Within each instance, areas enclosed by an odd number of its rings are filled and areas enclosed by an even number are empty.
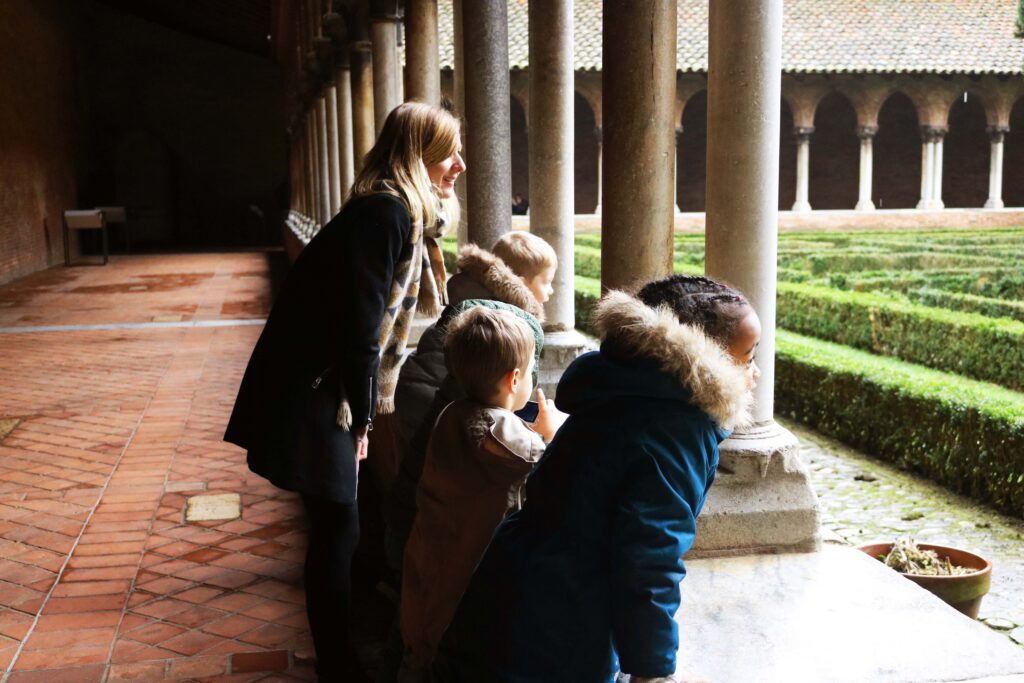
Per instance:
[[[672,272],[676,0],[605,0],[601,286]]]

